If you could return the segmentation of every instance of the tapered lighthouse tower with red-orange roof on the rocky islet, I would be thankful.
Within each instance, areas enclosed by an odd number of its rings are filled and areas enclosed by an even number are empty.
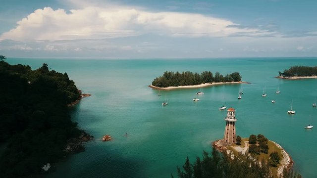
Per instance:
[[[235,109],[230,107],[227,110],[227,117],[224,118],[226,121],[226,127],[224,129],[223,141],[228,144],[236,143],[236,127],[235,123],[237,121],[235,117]]]

